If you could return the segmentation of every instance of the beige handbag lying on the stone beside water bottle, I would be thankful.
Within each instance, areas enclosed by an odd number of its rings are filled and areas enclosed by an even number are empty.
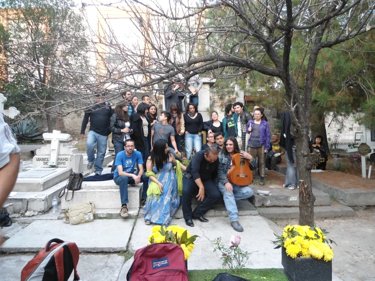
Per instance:
[[[77,206],[72,206],[62,210],[64,214],[62,221],[64,223],[70,223],[71,225],[90,223],[94,220],[95,215],[95,203],[90,201]]]

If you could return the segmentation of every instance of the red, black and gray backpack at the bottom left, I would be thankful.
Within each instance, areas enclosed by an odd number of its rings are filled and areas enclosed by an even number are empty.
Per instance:
[[[74,280],[79,280],[78,260],[76,243],[52,239],[22,269],[21,281],[67,281],[73,270]]]

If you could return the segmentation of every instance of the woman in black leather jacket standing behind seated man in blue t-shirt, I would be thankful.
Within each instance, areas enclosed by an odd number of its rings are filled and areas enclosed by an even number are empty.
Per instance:
[[[130,117],[127,113],[128,102],[124,101],[115,108],[115,113],[110,119],[110,131],[112,132],[113,146],[115,147],[115,159],[113,159],[113,164],[111,172],[113,173],[116,169],[116,155],[125,150],[124,142],[126,139],[130,138]]]

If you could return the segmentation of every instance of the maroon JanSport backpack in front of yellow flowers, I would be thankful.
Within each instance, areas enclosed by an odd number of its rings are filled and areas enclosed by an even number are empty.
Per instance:
[[[184,251],[174,243],[155,243],[134,254],[127,281],[188,281]]]

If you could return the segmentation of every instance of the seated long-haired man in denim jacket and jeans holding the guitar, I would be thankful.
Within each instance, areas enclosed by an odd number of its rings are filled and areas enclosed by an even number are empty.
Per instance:
[[[235,137],[230,136],[224,142],[224,147],[219,153],[219,168],[218,168],[218,188],[223,194],[225,207],[228,211],[230,225],[235,231],[244,231],[244,228],[238,222],[238,209],[235,201],[248,199],[253,196],[254,192],[252,185],[237,186],[228,180],[228,171],[232,166],[232,156],[235,153],[240,153],[242,157],[249,160],[251,168],[254,168],[255,159],[247,152],[241,151]]]

